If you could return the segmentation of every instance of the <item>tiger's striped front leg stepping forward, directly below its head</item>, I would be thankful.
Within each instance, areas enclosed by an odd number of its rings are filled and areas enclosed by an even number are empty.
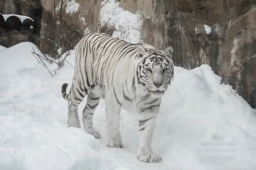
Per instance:
[[[154,127],[159,113],[159,106],[154,106],[147,111],[143,110],[139,116],[139,149],[137,158],[143,162],[156,163],[161,161],[161,157],[153,152],[151,148]]]

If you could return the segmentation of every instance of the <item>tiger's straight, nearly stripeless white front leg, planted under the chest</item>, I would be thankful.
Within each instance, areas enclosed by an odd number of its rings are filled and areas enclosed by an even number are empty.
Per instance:
[[[120,127],[121,104],[113,94],[106,94],[106,131],[108,147],[123,147]]]

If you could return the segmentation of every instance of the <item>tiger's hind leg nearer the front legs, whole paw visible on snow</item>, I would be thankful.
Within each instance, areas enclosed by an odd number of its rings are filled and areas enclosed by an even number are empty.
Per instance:
[[[100,133],[93,128],[93,113],[99,105],[100,97],[101,96],[91,91],[87,96],[87,103],[83,110],[84,130],[86,133],[93,135],[96,139],[100,138]]]

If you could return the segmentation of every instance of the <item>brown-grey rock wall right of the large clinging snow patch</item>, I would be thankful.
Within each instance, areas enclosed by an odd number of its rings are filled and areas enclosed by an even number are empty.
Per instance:
[[[141,38],[160,48],[173,45],[175,65],[210,65],[256,108],[255,0],[120,0],[120,5],[142,11]]]

